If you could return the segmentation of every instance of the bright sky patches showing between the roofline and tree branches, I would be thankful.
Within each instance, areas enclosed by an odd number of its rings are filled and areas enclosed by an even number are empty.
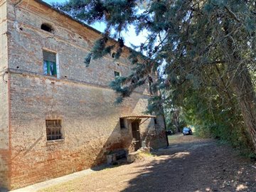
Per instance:
[[[64,3],[67,0],[43,0],[46,1],[48,4],[52,3]],[[98,31],[104,31],[105,24],[104,23],[94,23],[92,25],[93,28],[96,28]],[[124,36],[124,43],[126,46],[130,46],[130,43],[132,43],[134,46],[140,46],[141,43],[144,43],[146,41],[146,31],[143,33],[140,33],[139,36],[136,36],[134,27],[131,26],[126,33],[122,34]]]

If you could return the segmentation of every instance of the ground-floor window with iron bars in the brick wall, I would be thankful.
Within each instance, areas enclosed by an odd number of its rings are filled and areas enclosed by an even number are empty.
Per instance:
[[[46,120],[46,137],[47,141],[63,139],[60,119]]]

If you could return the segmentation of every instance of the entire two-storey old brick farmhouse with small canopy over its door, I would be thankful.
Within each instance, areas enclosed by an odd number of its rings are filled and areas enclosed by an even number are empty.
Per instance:
[[[109,84],[132,69],[129,48],[86,67],[99,31],[41,0],[0,0],[0,14],[0,188],[88,169],[118,149],[167,145],[164,117],[144,114],[149,82],[114,104]]]

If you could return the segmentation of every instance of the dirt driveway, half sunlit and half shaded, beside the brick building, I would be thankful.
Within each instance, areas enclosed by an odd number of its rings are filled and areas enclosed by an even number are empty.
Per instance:
[[[174,135],[170,147],[43,191],[250,191],[256,164],[211,139]]]

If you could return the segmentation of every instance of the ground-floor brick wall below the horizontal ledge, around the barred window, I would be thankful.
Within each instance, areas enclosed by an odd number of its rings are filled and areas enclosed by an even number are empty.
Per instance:
[[[117,107],[112,90],[76,82],[28,75],[11,75],[11,82],[14,188],[89,168],[105,161],[106,151],[128,148],[132,132],[119,128],[120,114],[141,114],[147,104],[134,94]],[[63,119],[64,141],[46,142],[45,119],[56,117]]]

